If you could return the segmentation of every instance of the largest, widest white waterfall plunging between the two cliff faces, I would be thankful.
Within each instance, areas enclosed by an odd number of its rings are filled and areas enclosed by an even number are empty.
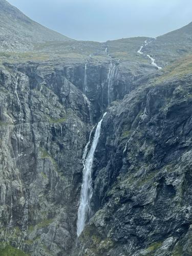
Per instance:
[[[104,113],[103,117],[106,115]],[[83,163],[83,181],[81,185],[81,195],[80,195],[80,204],[78,209],[78,219],[77,219],[77,236],[80,235],[82,232],[84,226],[86,225],[86,222],[89,220],[91,216],[91,207],[90,202],[91,198],[93,196],[93,188],[92,188],[92,165],[94,160],[94,154],[97,147],[97,143],[100,137],[100,131],[101,131],[101,123],[102,119],[98,122],[94,139],[90,148],[90,151],[88,153],[89,145],[91,144],[91,135],[94,130],[94,128],[91,131],[89,142],[86,145],[82,157],[82,163]]]

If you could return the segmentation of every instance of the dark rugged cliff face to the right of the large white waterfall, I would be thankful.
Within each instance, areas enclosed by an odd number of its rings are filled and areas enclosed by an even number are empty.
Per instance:
[[[159,80],[103,120],[77,255],[190,255],[191,75]]]

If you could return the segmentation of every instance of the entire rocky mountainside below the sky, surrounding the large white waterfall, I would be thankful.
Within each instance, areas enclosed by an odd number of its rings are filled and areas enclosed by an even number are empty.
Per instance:
[[[105,43],[44,28],[25,49],[2,36],[0,254],[191,255],[190,28]],[[77,238],[82,155],[104,112]]]

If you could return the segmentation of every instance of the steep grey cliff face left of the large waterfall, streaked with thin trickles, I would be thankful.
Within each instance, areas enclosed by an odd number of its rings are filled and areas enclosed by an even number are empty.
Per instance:
[[[10,243],[31,255],[71,253],[83,148],[92,124],[108,105],[109,65],[89,63],[85,73],[81,63],[4,63],[0,81],[2,246]],[[140,77],[122,73],[123,66],[115,61],[113,65],[112,101],[133,90]]]

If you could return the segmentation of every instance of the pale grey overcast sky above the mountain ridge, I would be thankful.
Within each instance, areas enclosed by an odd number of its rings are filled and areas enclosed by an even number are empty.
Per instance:
[[[8,0],[36,22],[78,40],[167,33],[192,22],[191,0]]]

